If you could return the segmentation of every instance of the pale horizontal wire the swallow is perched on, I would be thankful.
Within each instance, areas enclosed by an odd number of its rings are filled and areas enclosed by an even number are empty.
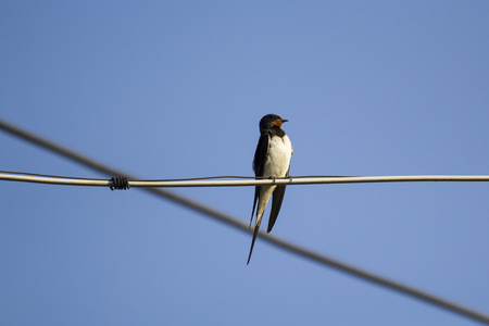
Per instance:
[[[226,180],[210,180],[227,178]],[[229,180],[240,178],[240,180]],[[244,179],[244,180],[243,180]],[[113,187],[111,179],[89,179],[61,176],[48,176],[28,173],[9,173],[0,171],[0,180],[24,181],[68,186]],[[187,179],[128,180],[131,188],[137,187],[250,187],[263,185],[323,185],[323,184],[363,184],[363,183],[414,183],[414,181],[489,181],[488,175],[412,175],[412,176],[364,176],[364,177],[333,177],[333,176],[299,176],[286,178],[258,178],[246,176],[216,176]]]

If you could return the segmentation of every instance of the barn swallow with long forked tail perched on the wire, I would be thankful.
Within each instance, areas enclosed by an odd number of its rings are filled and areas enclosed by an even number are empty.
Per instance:
[[[260,140],[254,152],[253,171],[255,177],[260,178],[281,178],[289,175],[290,159],[292,158],[292,143],[289,137],[281,129],[281,124],[287,120],[276,114],[267,114],[260,121]],[[254,209],[256,206],[256,222],[254,225],[253,240],[251,241],[250,254],[248,263],[250,263],[251,253],[253,252],[254,241],[262,223],[263,213],[266,204],[273,193],[272,211],[269,213],[268,228],[269,233],[277,220],[280,211],[281,201],[284,200],[286,186],[256,186],[254,188],[253,211],[251,212],[251,223],[253,222]]]

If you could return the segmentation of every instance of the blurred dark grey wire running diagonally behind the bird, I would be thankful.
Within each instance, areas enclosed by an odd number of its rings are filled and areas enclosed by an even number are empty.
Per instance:
[[[90,160],[88,158],[83,156],[79,153],[76,153],[73,150],[70,150],[67,148],[64,148],[58,143],[54,143],[52,141],[46,140],[41,137],[38,137],[34,134],[30,134],[28,131],[25,131],[18,127],[15,127],[13,125],[10,125],[3,121],[0,120],[0,129],[3,129],[16,137],[20,137],[22,139],[25,139],[27,141],[30,141],[33,143],[36,143],[40,147],[43,147],[45,149],[48,149],[50,151],[53,151],[62,156],[65,156],[67,159],[71,159],[75,162],[78,162],[85,166],[88,166],[92,170],[109,174],[109,175],[125,175],[126,177],[129,177],[128,174],[126,173],[122,173],[121,171],[117,171],[115,168],[109,167],[106,165],[103,165],[97,161]],[[131,179],[135,179],[134,177],[130,177]],[[133,185],[130,185],[133,187]],[[242,223],[240,221],[237,221],[236,218],[233,218],[231,216],[221,213],[214,209],[211,209],[209,206],[205,206],[197,201],[193,201],[191,199],[187,199],[185,197],[175,195],[173,192],[163,190],[163,189],[158,189],[158,188],[143,188],[143,190],[149,191],[153,195],[156,195],[159,197],[162,198],[166,198],[170,199],[180,205],[185,205],[196,212],[202,213],[204,215],[208,215],[212,218],[218,220],[221,222],[224,222],[228,225],[231,225],[234,227],[236,227],[237,229],[240,229],[242,231],[246,233],[251,233],[251,230],[248,228],[248,224],[247,223]],[[279,239],[277,237],[271,236],[268,234],[264,234],[264,233],[259,233],[259,236],[269,242],[273,243],[279,248],[281,248],[283,250],[287,250],[289,252],[292,252],[294,254],[298,254],[301,258],[306,258],[309,260],[312,260],[316,263],[323,264],[323,265],[327,265],[329,267],[334,267],[338,271],[341,271],[343,273],[350,274],[352,276],[356,276],[359,278],[362,278],[364,280],[374,283],[376,285],[389,288],[391,290],[401,292],[403,294],[419,299],[424,302],[437,305],[439,308],[446,309],[448,311],[451,311],[453,313],[457,313],[460,315],[463,315],[465,317],[469,317],[472,319],[481,322],[484,324],[489,325],[489,316],[485,315],[480,312],[477,312],[475,310],[472,310],[469,308],[450,302],[448,300],[438,298],[434,294],[421,291],[418,289],[415,288],[411,288],[409,286],[402,285],[400,283],[384,278],[381,276],[377,276],[375,274],[365,272],[361,268],[344,264],[342,262],[339,262],[337,260],[333,260],[330,258],[327,258],[323,254],[313,252],[311,250],[306,250],[304,248],[300,248],[299,246],[292,244],[286,240]]]

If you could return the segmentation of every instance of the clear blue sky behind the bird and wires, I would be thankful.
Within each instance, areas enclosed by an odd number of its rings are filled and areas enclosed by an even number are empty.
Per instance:
[[[489,174],[489,1],[2,1],[0,118],[140,178]],[[0,133],[0,170],[102,177]],[[253,188],[176,189],[247,222]],[[138,190],[0,183],[2,325],[478,325]],[[489,184],[293,186],[274,235],[489,314]]]

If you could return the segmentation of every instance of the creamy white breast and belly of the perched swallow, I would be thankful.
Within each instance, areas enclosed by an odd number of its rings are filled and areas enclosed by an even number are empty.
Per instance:
[[[268,141],[268,152],[263,171],[264,177],[284,177],[290,166],[292,143],[289,137],[274,136]]]

